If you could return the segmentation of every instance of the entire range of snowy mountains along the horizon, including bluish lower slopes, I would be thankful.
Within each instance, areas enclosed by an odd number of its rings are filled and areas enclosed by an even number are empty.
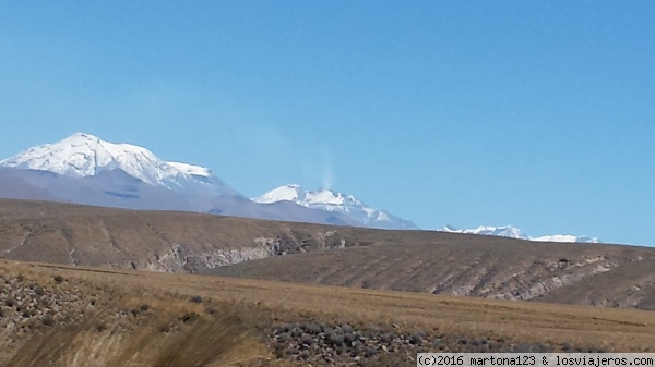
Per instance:
[[[164,161],[144,147],[115,144],[84,133],[0,160],[0,197],[378,229],[418,229],[414,222],[374,209],[353,195],[325,188],[306,191],[289,184],[249,199],[207,168]],[[511,227],[445,228],[442,231],[533,241],[598,242],[572,235],[533,238]]]

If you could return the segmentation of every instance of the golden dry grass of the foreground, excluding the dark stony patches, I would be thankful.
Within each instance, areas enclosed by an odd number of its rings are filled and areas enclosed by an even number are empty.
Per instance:
[[[288,365],[273,358],[261,333],[274,323],[302,320],[617,352],[655,345],[655,313],[643,310],[4,260],[0,270],[41,283],[59,276],[75,290],[110,299],[83,322],[36,332],[5,366],[46,366],[53,359],[61,366]],[[190,303],[193,296],[204,301]],[[130,310],[143,305],[145,316],[129,318]],[[117,317],[115,309],[127,315]],[[212,318],[193,326],[174,322],[183,315],[207,314]],[[162,332],[168,328],[170,332]]]

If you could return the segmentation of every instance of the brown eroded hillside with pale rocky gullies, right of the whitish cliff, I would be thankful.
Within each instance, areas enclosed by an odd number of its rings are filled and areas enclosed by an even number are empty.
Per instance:
[[[218,276],[655,309],[650,248],[524,242],[371,245],[248,261]]]

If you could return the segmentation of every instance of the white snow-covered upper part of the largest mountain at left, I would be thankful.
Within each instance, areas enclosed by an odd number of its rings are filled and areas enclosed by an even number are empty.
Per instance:
[[[29,148],[1,160],[0,167],[49,171],[70,178],[95,176],[119,169],[146,184],[183,194],[239,195],[204,167],[167,162],[146,148],[115,144],[84,133]]]

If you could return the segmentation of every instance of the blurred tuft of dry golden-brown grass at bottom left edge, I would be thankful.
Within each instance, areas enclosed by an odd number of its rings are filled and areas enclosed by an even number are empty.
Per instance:
[[[105,309],[83,322],[36,334],[5,367],[218,367],[263,366],[267,351],[237,310],[203,316],[190,325],[178,320],[180,305],[154,307],[158,314],[135,326],[132,315]],[[151,307],[148,307],[150,309]],[[171,332],[163,325],[174,325]],[[100,327],[102,326],[102,327]]]

